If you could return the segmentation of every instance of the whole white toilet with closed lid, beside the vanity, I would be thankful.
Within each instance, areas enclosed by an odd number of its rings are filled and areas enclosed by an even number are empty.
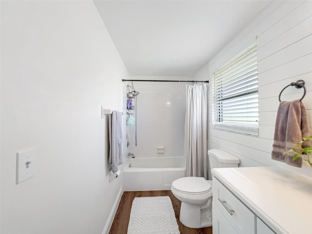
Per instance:
[[[220,149],[208,151],[211,169],[238,167],[239,158]],[[181,201],[180,222],[189,228],[212,226],[212,180],[183,177],[172,182],[171,192]]]

